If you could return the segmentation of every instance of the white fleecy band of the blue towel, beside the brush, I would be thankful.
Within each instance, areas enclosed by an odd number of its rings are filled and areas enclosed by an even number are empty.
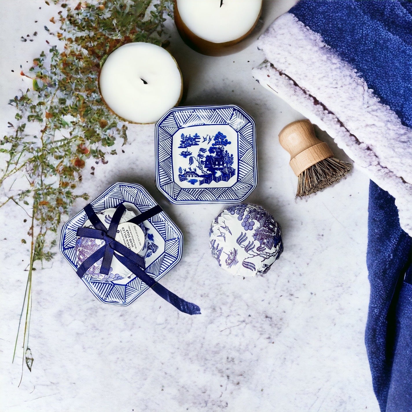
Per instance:
[[[392,194],[400,225],[412,235],[412,130],[293,14],[276,19],[258,47],[268,61],[253,69],[253,77],[325,130]]]

